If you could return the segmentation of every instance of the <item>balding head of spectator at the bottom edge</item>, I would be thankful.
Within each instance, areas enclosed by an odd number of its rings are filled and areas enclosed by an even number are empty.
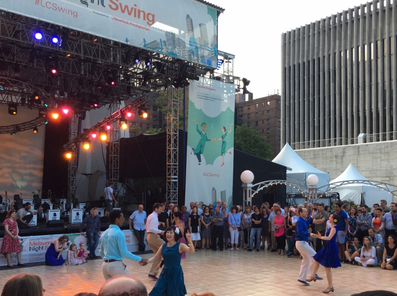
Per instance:
[[[111,278],[99,290],[98,296],[147,296],[145,285],[132,275]]]

